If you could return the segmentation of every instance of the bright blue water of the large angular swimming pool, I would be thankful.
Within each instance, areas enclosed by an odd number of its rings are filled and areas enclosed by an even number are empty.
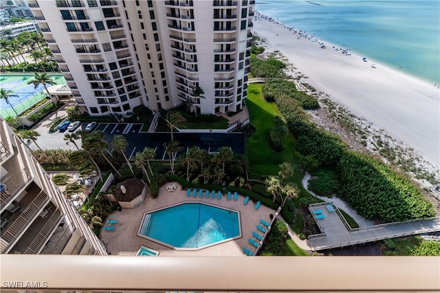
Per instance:
[[[239,236],[239,215],[206,204],[179,204],[144,215],[140,234],[175,248],[201,248]]]

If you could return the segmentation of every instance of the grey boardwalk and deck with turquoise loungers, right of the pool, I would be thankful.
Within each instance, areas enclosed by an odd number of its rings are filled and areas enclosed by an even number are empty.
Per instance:
[[[351,229],[336,206],[332,206],[334,211],[327,210],[328,204],[320,203],[309,206],[322,232],[318,235],[311,235],[307,240],[312,250],[352,246],[382,239],[440,231],[440,217]]]

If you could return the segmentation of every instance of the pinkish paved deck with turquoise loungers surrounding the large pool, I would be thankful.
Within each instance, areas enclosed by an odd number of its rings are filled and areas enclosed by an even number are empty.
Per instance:
[[[202,198],[200,197],[186,197],[186,189],[181,188],[177,182],[173,182],[177,189],[175,191],[167,191],[165,184],[159,189],[159,196],[157,199],[146,197],[146,200],[140,206],[133,209],[124,209],[121,212],[116,210],[107,219],[116,219],[118,224],[113,224],[115,229],[113,231],[100,231],[100,239],[107,246],[108,252],[113,255],[135,255],[140,246],[146,246],[160,252],[158,257],[162,256],[245,256],[243,254],[243,247],[248,248],[251,252],[255,251],[254,246],[248,242],[248,238],[252,238],[252,231],[256,230],[256,225],[259,224],[260,219],[270,222],[270,214],[276,213],[272,208],[261,205],[258,210],[255,210],[254,203],[250,200],[247,205],[243,204],[245,197],[239,195],[239,199],[228,200],[226,195],[221,199]],[[241,237],[220,243],[208,248],[200,250],[175,250],[163,246],[155,241],[150,241],[137,236],[137,230],[142,221],[144,213],[157,208],[164,208],[174,204],[184,202],[206,202],[221,208],[230,208],[232,210],[239,210],[241,222]],[[176,219],[178,221],[179,219]],[[259,232],[261,235],[262,233]],[[255,240],[255,239],[254,239]]]

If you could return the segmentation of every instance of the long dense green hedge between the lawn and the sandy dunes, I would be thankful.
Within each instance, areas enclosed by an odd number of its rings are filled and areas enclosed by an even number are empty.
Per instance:
[[[298,138],[296,150],[320,166],[336,166],[338,194],[366,219],[380,223],[432,217],[434,208],[405,177],[382,162],[350,151],[340,138],[316,127],[297,100],[276,96],[287,125]]]

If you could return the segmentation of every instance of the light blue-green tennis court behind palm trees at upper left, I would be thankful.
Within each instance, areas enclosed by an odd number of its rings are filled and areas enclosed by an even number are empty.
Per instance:
[[[64,85],[66,83],[62,74],[49,75],[57,85]],[[0,88],[7,91],[11,90],[13,91],[12,94],[18,95],[18,97],[10,97],[8,99],[18,113],[28,109],[46,96],[43,85],[39,85],[37,88],[34,85],[28,85],[28,81],[32,79],[34,79],[34,74],[1,74]],[[46,86],[51,87],[51,85]],[[15,116],[10,105],[3,99],[0,100],[0,115],[3,118]]]

